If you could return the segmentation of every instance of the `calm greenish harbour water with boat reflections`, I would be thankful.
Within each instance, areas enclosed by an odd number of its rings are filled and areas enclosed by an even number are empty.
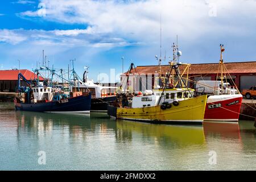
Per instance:
[[[0,103],[0,169],[255,170],[253,125],[154,125],[105,113],[15,111],[13,103]],[[46,164],[38,162],[42,151]]]

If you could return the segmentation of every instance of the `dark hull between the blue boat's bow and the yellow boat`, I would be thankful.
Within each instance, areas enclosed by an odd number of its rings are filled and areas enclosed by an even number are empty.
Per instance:
[[[117,96],[102,97],[102,98],[92,98],[90,111],[92,112],[107,112],[108,105],[114,104],[117,100]]]

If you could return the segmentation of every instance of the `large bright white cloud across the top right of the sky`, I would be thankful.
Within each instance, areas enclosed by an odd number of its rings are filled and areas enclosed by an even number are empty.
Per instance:
[[[160,14],[163,38],[167,40],[175,39],[176,34],[188,40],[207,34],[238,35],[248,32],[247,27],[239,24],[250,19],[250,24],[255,26],[251,22],[256,16],[256,2],[253,0],[237,0],[236,3],[231,0],[41,0],[40,3],[45,5],[44,20],[86,24],[92,27],[94,34],[114,34],[123,39],[147,43],[159,42]],[[34,17],[41,10],[26,11],[20,15]],[[210,15],[212,11],[216,16]]]

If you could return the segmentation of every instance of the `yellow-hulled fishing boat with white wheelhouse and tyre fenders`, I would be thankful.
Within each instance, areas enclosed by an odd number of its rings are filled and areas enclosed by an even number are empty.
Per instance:
[[[174,60],[170,62],[167,79],[162,79],[162,88],[160,85],[155,85],[154,90],[145,90],[144,93],[139,92],[135,96],[121,94],[118,96],[118,107],[108,106],[110,117],[157,123],[203,123],[207,96],[198,95],[195,90],[188,88],[179,67],[180,65],[189,67],[190,64],[179,62],[181,52],[175,44],[173,48]],[[126,85],[128,83],[129,76]]]

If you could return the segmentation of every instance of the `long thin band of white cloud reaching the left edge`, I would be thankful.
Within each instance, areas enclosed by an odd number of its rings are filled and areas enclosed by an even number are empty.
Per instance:
[[[137,44],[115,36],[93,34],[93,29],[73,30],[0,30],[0,42],[27,45],[112,48]]]

